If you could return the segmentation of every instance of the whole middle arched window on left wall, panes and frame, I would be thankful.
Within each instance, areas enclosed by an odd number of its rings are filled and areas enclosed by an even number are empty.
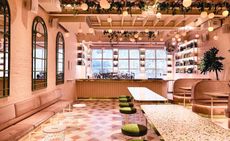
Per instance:
[[[35,17],[32,27],[32,90],[47,87],[48,35],[44,20]]]

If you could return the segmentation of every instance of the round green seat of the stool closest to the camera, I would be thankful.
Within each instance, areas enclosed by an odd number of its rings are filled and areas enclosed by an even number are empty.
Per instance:
[[[121,128],[121,132],[124,135],[131,136],[131,137],[141,137],[147,134],[147,127],[140,124],[125,124]]]

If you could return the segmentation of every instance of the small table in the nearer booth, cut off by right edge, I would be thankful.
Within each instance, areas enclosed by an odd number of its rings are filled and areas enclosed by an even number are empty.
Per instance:
[[[221,93],[221,92],[204,92],[205,95],[208,95],[211,97],[211,120],[213,119],[213,98],[227,98],[229,97],[229,93]],[[219,108],[227,108],[226,106],[218,106]]]

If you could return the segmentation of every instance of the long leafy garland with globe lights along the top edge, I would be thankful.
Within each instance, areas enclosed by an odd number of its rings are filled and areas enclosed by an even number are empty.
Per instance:
[[[199,12],[209,11],[215,14],[228,16],[230,11],[230,3],[227,1],[192,1],[192,0],[179,0],[179,1],[156,1],[156,0],[60,0],[63,9],[71,9],[74,14],[83,10],[84,14],[96,13],[108,14],[122,14],[125,10],[128,14],[132,14],[132,10],[138,10],[139,13],[153,14],[158,12],[175,14],[186,14],[192,10]],[[150,10],[149,10],[150,9]],[[94,12],[95,13],[95,12]]]

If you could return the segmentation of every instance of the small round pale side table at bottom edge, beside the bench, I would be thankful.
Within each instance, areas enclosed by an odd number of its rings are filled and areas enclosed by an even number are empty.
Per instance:
[[[45,133],[45,141],[64,141],[65,140],[65,125],[51,125],[45,127],[42,131]]]

